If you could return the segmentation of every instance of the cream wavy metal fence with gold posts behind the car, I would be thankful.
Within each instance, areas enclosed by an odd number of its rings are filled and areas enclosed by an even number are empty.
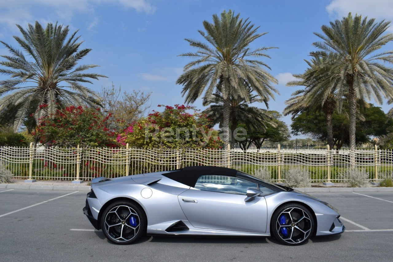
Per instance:
[[[392,149],[144,149],[0,147],[0,161],[16,178],[90,180],[174,170],[185,166],[224,166],[253,174],[263,168],[274,181],[288,169],[306,170],[312,182],[345,181],[348,168],[364,169],[370,181],[391,178]]]

